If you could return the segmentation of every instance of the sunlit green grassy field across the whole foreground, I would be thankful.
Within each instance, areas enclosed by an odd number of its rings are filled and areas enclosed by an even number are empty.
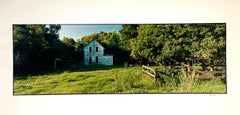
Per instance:
[[[226,84],[220,79],[199,81],[184,75],[163,75],[154,84],[142,75],[141,67],[101,65],[14,77],[14,95],[89,93],[226,93]]]

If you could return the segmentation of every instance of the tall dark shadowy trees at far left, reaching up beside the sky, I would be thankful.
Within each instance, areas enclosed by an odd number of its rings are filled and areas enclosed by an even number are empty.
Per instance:
[[[58,29],[59,25],[13,25],[14,74],[40,71],[54,63],[48,54],[56,57],[57,52],[49,49],[56,48]]]

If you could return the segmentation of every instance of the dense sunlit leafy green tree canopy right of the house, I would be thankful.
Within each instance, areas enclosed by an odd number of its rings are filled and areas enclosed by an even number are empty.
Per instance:
[[[131,56],[143,63],[224,65],[225,24],[139,25]]]

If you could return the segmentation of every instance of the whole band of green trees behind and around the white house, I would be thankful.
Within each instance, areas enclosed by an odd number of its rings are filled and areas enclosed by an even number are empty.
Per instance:
[[[97,39],[114,64],[225,65],[226,24],[123,24],[119,31],[59,39],[61,25],[13,25],[14,74],[83,62],[83,47]],[[197,61],[196,61],[197,60]]]

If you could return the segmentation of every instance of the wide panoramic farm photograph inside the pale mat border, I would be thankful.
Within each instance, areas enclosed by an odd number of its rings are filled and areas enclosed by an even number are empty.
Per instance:
[[[13,95],[226,94],[226,23],[13,24]]]

